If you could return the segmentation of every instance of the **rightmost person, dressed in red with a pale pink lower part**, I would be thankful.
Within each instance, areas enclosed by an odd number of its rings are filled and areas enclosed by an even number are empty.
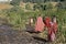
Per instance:
[[[48,26],[48,40],[50,41],[54,41],[56,38],[55,36],[56,32],[57,32],[57,22],[56,22],[56,16],[54,15]]]

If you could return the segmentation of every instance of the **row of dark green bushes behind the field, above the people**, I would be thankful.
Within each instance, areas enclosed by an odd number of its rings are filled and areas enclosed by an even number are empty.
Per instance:
[[[33,7],[34,10],[51,10],[53,9],[53,4],[52,3],[37,3],[37,4],[34,4]]]

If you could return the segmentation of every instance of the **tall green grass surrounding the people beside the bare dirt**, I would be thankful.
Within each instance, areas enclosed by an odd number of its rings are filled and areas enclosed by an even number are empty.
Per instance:
[[[56,15],[57,22],[58,22],[58,32],[57,32],[57,40],[54,42],[57,43],[66,43],[66,28],[63,28],[66,25],[66,10],[59,9],[59,10],[44,10],[44,11],[29,11],[24,12],[20,7],[14,7],[9,10],[2,10],[0,11],[0,16],[4,20],[7,20],[6,23],[12,24],[13,28],[16,30],[24,30],[25,23],[29,20],[30,16],[33,16],[35,20],[38,14],[42,14],[42,16],[51,16]],[[34,21],[35,22],[35,21]],[[3,23],[3,22],[2,22]],[[41,33],[41,37],[45,37],[45,33]]]

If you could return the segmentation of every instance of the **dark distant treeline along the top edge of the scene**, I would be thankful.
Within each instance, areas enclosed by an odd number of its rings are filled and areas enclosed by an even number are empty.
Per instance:
[[[20,2],[44,3],[44,2],[65,2],[66,0],[12,0],[11,4],[19,4]]]

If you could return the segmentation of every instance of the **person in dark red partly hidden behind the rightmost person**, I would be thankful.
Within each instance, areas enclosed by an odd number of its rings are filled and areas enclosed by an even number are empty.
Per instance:
[[[47,40],[51,41],[51,23],[52,20],[50,16],[46,16],[45,20],[44,20],[44,23],[45,23],[45,26],[47,29]]]

